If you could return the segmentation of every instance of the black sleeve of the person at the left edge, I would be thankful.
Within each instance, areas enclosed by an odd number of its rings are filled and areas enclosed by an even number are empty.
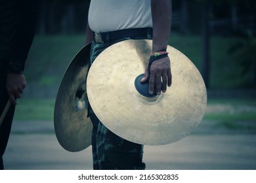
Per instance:
[[[24,69],[35,34],[37,0],[0,0],[0,59]],[[23,70],[22,69],[22,70]]]

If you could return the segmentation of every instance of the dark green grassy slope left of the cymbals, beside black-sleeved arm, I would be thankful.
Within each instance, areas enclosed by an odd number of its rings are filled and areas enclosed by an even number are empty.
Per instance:
[[[66,67],[83,47],[83,35],[37,35],[26,61],[29,82],[54,85],[62,78]]]

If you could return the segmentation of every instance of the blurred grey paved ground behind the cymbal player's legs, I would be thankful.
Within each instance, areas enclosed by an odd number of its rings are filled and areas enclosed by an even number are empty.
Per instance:
[[[209,123],[165,146],[145,146],[147,169],[256,169],[256,135],[209,133]],[[5,169],[92,169],[91,147],[64,150],[51,122],[14,122],[5,152]]]

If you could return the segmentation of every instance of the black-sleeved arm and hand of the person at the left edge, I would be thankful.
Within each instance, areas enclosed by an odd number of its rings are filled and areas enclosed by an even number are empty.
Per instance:
[[[35,33],[37,3],[34,0],[6,1],[1,7],[0,59],[8,63],[6,88],[10,101],[16,105],[26,87],[23,75],[28,52]]]

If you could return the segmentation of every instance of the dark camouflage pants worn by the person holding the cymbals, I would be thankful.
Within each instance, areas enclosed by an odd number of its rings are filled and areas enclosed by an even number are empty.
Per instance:
[[[92,42],[91,63],[111,44],[114,42]],[[89,116],[93,122],[93,169],[145,169],[146,165],[142,162],[143,145],[126,141],[112,133],[98,120],[90,107]]]

